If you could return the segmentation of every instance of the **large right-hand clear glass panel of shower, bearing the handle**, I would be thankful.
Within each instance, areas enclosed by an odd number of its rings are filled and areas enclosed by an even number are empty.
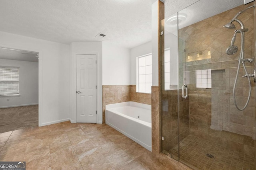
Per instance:
[[[180,11],[179,15],[207,2],[200,0]],[[241,34],[236,35],[237,53],[228,55],[226,49],[234,30],[222,27],[253,4],[238,6],[185,27],[179,24],[179,88],[183,84],[188,87],[188,98],[179,95],[178,103],[179,161],[194,169],[256,169],[255,83],[251,79],[252,97],[246,109],[239,111],[234,104],[233,87]],[[249,30],[244,40],[246,59],[254,57],[253,14],[251,8],[239,18]],[[240,28],[239,23],[234,24]],[[252,73],[253,63],[246,62],[246,68]],[[240,108],[246,104],[249,92],[248,81],[242,77],[245,74],[241,65],[235,88]]]

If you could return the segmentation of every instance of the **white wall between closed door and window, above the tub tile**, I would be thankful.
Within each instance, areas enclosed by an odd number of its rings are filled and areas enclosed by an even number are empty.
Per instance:
[[[129,49],[102,42],[102,84],[130,84]]]

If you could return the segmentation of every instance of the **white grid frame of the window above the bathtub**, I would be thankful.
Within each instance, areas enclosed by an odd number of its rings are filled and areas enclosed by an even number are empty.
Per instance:
[[[150,74],[140,74],[139,73],[139,59],[142,58],[142,57],[147,57],[147,56],[150,56],[151,55],[151,64],[148,64],[148,65],[145,65],[146,66],[151,66],[151,82],[150,82],[150,91],[140,91],[140,86],[139,86],[139,75],[150,75]],[[145,76],[146,77],[146,76]],[[145,78],[146,79],[146,78]],[[149,82],[145,82],[144,83],[141,83],[141,84],[149,84]],[[152,86],[152,53],[149,53],[149,54],[146,54],[146,55],[142,55],[142,56],[139,56],[139,57],[136,57],[136,92],[137,93],[146,93],[146,94],[151,94],[151,86]]]

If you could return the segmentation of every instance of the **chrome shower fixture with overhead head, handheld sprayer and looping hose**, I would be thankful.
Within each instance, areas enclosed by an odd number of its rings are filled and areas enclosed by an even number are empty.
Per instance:
[[[252,61],[254,61],[254,59],[244,59],[244,33],[248,31],[248,28],[244,28],[244,23],[240,20],[238,20],[238,16],[240,16],[244,11],[250,9],[250,8],[253,8],[253,6],[249,6],[248,8],[245,8],[244,10],[238,12],[236,14],[236,16],[234,16],[234,18],[229,22],[227,23],[226,25],[224,25],[223,27],[225,28],[228,28],[228,29],[235,29],[236,26],[232,23],[234,21],[238,22],[241,26],[241,29],[237,29],[235,30],[235,33],[231,39],[231,43],[230,43],[230,46],[227,48],[226,50],[226,53],[228,55],[233,55],[235,54],[237,51],[238,51],[238,47],[236,45],[234,45],[235,41],[236,41],[236,34],[237,33],[241,33],[241,50],[240,50],[240,57],[238,59],[238,68],[237,68],[237,72],[236,72],[236,78],[235,78],[235,82],[234,82],[234,87],[233,87],[233,99],[234,99],[234,104],[236,106],[236,108],[240,111],[244,110],[248,103],[249,103],[249,100],[250,100],[250,96],[251,96],[251,91],[252,91],[252,85],[251,85],[251,82],[250,82],[250,77],[254,77],[255,78],[255,71],[254,71],[254,74],[249,74],[247,72],[247,69],[246,69],[246,66],[245,66],[245,62],[248,61],[250,63],[252,63]],[[244,72],[246,73],[243,77],[244,78],[247,78],[248,80],[248,83],[249,83],[249,94],[248,94],[248,99],[247,99],[247,102],[245,104],[245,106],[240,109],[237,104],[236,104],[236,94],[235,94],[235,90],[236,90],[236,83],[237,83],[237,80],[238,80],[238,74],[239,74],[239,69],[240,69],[240,64],[242,63],[243,65],[243,68],[244,68]]]

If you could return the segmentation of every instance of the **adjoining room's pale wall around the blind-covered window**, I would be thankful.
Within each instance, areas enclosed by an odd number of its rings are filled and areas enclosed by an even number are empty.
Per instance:
[[[38,104],[38,63],[0,59],[0,66],[19,67],[20,72],[20,96],[0,97],[0,108]]]

